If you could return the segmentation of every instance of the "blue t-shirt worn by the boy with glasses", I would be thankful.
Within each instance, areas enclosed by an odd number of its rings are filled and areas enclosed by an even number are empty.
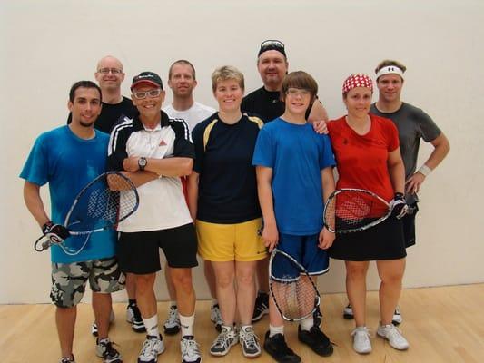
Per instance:
[[[272,198],[281,233],[311,235],[322,228],[321,170],[334,166],[330,138],[311,124],[277,118],[255,144],[253,165],[272,168]]]

